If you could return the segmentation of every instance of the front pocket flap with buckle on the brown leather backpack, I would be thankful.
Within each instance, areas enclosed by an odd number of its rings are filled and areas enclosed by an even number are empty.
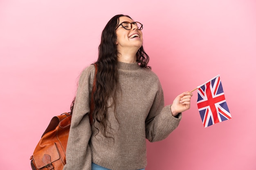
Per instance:
[[[51,146],[47,146],[42,150],[34,153],[34,161],[36,164],[36,168],[40,169],[43,168],[54,161],[60,159],[60,155],[58,153],[58,148],[56,144],[52,144]]]

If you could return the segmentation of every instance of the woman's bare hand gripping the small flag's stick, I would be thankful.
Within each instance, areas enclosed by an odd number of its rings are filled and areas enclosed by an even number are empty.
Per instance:
[[[178,113],[186,111],[190,108],[190,100],[193,94],[191,92],[184,92],[178,95],[171,105],[171,113],[177,116]]]

